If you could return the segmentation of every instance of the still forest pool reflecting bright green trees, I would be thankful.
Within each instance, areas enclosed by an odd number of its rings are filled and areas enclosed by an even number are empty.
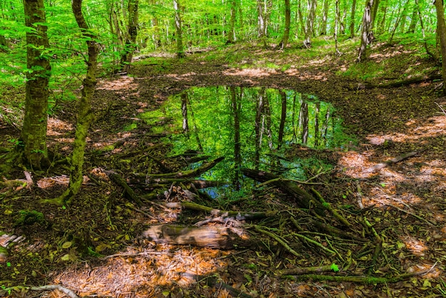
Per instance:
[[[301,165],[308,160],[286,157],[286,150],[293,144],[325,149],[348,143],[351,137],[343,133],[342,121],[333,112],[330,103],[311,94],[214,86],[190,88],[172,96],[158,111],[139,117],[151,125],[162,119],[165,124],[157,125],[155,133],[174,131],[172,155],[198,150],[212,158],[224,156],[222,163],[201,178],[228,181],[238,190],[244,185],[240,168],[306,179]],[[217,194],[222,191],[228,189],[211,190],[211,195],[222,195]]]

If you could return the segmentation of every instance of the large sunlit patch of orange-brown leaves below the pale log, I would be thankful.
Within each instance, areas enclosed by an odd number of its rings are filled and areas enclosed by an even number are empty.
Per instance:
[[[53,279],[65,287],[79,289],[82,297],[110,293],[122,297],[152,297],[177,286],[187,296],[187,287],[227,267],[226,256],[230,254],[170,245],[157,245],[155,249],[140,251],[128,247],[126,252],[108,256],[98,267],[73,266]],[[212,287],[209,290],[215,291]]]

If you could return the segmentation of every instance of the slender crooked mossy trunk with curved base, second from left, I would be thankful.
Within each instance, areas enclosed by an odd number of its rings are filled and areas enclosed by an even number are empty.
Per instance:
[[[83,79],[83,89],[81,101],[79,101],[78,119],[76,125],[76,134],[74,137],[73,155],[71,157],[70,183],[68,189],[63,194],[49,202],[63,205],[66,201],[73,199],[81,190],[83,182],[83,159],[85,155],[85,143],[93,123],[93,112],[91,111],[91,99],[95,93],[96,86],[96,68],[98,66],[98,44],[95,40],[97,37],[89,30],[87,22],[82,14],[82,0],[72,0],[71,8],[76,18],[85,43],[88,46],[87,74]]]

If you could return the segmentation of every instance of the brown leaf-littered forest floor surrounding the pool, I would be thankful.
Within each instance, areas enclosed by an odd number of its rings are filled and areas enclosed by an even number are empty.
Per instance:
[[[446,114],[440,107],[446,110],[446,98],[436,91],[440,82],[430,80],[385,86],[398,80],[427,78],[439,68],[419,45],[408,43],[377,43],[368,61],[355,63],[355,48],[347,43],[341,48],[342,56],[328,53],[323,40],[308,50],[276,51],[244,44],[191,53],[181,60],[147,56],[133,65],[131,76],[101,78],[93,105],[96,119],[85,155],[88,175],[81,193],[69,205],[39,202],[61,194],[68,183],[66,165],[31,171],[31,187],[25,187],[23,181],[21,185],[6,183],[25,179],[24,169],[1,173],[0,245],[9,251],[0,250],[0,296],[64,297],[62,288],[35,292],[28,287],[59,284],[83,297],[444,297]],[[210,215],[149,200],[138,206],[108,179],[104,169],[131,178],[147,172],[145,160],[150,158],[174,171],[187,166],[180,158],[167,158],[170,146],[150,133],[152,127],[140,125],[124,131],[123,126],[142,111],[156,110],[169,96],[192,86],[287,88],[311,92],[333,103],[358,143],[338,150],[306,150],[293,145],[286,158],[316,155],[332,163],[335,170],[312,180],[319,184],[301,187],[308,192],[314,187],[351,227],[342,226],[329,215],[326,223],[369,242],[346,240],[319,230],[304,235],[338,253],[331,255],[321,247],[296,240],[289,242],[298,252],[296,256],[273,238],[249,228],[248,235],[263,241],[255,248],[217,250],[144,239],[143,231],[149,225],[192,225]],[[49,118],[48,145],[58,156],[70,153],[75,115],[76,105],[67,102]],[[0,146],[11,148],[11,140],[19,138],[19,131],[0,122],[0,135]],[[416,154],[380,170],[369,170],[413,152]],[[157,163],[152,171],[161,171]],[[144,194],[143,190],[136,191]],[[190,200],[186,194],[179,185],[172,185],[168,197],[170,202]],[[242,200],[230,206],[231,210],[297,212],[293,200],[273,187],[251,196],[256,205]],[[208,204],[221,207],[217,202]],[[249,224],[232,222],[237,227]],[[281,229],[280,218],[262,225],[273,228],[270,232],[281,239],[291,239],[287,235],[291,229]],[[307,225],[311,226],[301,223],[302,227]],[[376,245],[381,250],[373,258]],[[301,279],[283,278],[279,274],[284,269],[333,263],[339,272],[332,268],[318,274],[386,279],[365,283],[317,280],[308,274]]]

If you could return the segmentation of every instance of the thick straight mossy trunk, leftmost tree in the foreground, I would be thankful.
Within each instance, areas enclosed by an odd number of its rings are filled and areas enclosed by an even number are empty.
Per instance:
[[[24,0],[26,32],[26,99],[21,138],[24,158],[31,168],[41,169],[50,165],[46,148],[48,123],[48,81],[51,66],[45,48],[49,46],[46,34],[45,6],[43,0]]]

